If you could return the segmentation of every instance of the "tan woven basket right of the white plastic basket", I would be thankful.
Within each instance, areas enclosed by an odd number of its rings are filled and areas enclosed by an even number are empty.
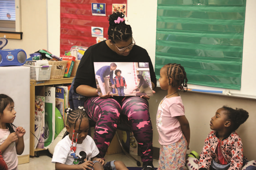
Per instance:
[[[49,61],[49,65],[52,65],[51,79],[64,77],[67,61]]]

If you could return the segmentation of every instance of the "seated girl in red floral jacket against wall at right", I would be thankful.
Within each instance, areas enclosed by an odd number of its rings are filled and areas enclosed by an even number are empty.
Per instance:
[[[235,130],[249,117],[240,108],[219,108],[210,121],[213,130],[204,141],[200,160],[189,157],[186,167],[189,170],[256,170],[256,161],[247,161],[243,144]]]

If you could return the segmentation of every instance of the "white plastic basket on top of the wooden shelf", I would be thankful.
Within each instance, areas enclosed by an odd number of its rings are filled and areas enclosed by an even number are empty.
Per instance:
[[[24,65],[30,67],[30,79],[35,81],[49,80],[51,76],[52,65],[34,66]]]

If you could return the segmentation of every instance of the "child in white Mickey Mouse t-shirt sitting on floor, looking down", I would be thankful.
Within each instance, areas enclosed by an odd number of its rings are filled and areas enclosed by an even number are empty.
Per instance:
[[[67,113],[66,128],[69,133],[55,146],[52,162],[56,170],[128,170],[122,161],[101,158],[95,142],[90,136],[89,119],[83,107]]]

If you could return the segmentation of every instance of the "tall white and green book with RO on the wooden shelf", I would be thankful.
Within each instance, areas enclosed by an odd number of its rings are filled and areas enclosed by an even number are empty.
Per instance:
[[[45,87],[44,149],[48,149],[55,136],[55,87]]]

